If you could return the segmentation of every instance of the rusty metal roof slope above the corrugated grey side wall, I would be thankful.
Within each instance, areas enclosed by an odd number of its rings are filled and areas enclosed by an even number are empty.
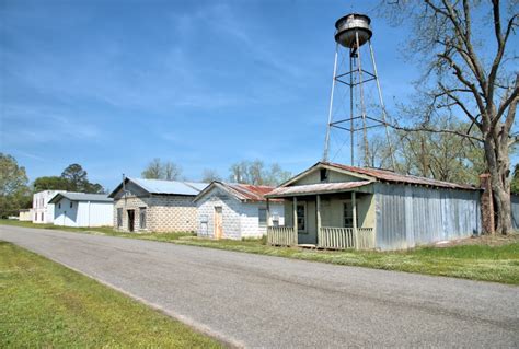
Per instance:
[[[402,174],[397,174],[395,172],[388,171],[388,170],[355,167],[355,166],[348,166],[348,165],[343,165],[343,164],[337,164],[337,163],[332,163],[332,162],[320,162],[316,165],[319,164],[370,176],[382,182],[415,184],[415,185],[434,186],[434,187],[450,188],[450,189],[478,190],[478,188],[472,185],[457,184],[457,183],[437,181],[437,179],[418,177],[418,176],[413,176],[413,175],[402,175]]]

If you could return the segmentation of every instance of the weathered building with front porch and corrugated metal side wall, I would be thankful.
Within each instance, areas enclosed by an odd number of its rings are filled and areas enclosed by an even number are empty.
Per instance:
[[[482,232],[481,189],[319,162],[266,195],[285,199],[273,245],[401,249]]]

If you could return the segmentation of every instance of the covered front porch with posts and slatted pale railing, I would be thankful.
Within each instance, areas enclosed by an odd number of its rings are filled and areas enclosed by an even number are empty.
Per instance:
[[[285,196],[288,225],[268,226],[267,243],[326,249],[374,248],[374,199],[369,191],[367,187],[361,191],[355,187],[315,195],[291,193],[290,198]]]

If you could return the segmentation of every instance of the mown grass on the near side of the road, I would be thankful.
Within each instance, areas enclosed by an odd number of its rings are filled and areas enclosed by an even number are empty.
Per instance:
[[[0,241],[0,348],[219,348],[85,276]]]

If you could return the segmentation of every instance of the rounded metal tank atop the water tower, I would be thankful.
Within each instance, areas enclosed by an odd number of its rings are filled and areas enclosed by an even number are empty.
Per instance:
[[[355,48],[357,39],[355,33],[359,35],[359,46],[366,44],[373,34],[371,32],[371,20],[365,14],[350,13],[335,22],[335,42],[347,48]]]

